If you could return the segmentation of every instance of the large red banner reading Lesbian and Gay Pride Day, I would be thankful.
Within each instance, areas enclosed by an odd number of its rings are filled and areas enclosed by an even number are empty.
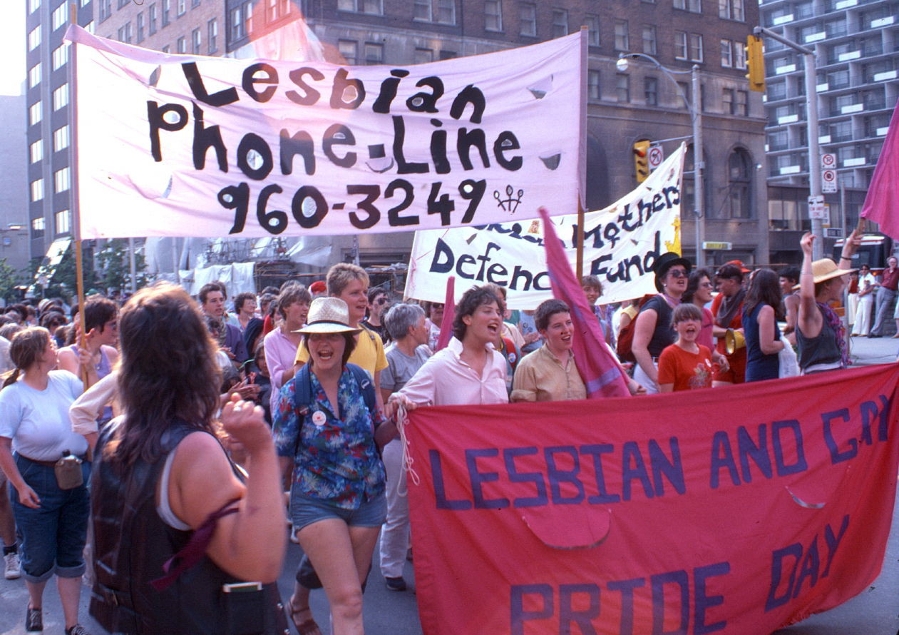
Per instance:
[[[425,635],[760,635],[845,602],[886,549],[897,381],[415,410]]]

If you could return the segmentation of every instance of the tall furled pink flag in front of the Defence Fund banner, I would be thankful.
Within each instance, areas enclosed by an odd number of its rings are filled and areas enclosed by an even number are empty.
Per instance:
[[[574,363],[586,385],[587,397],[628,397],[628,384],[621,374],[618,362],[606,346],[600,322],[587,303],[580,281],[574,277],[562,243],[556,238],[556,228],[549,220],[549,212],[542,207],[539,211],[540,218],[543,219],[543,245],[547,248],[549,281],[552,283],[553,295],[571,309],[571,321],[574,323]]]

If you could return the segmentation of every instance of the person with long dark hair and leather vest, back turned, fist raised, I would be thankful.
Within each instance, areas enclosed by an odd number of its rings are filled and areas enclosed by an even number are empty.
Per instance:
[[[120,337],[125,414],[100,435],[91,478],[91,614],[132,635],[231,632],[238,613],[252,632],[281,632],[270,585],[286,519],[263,409],[237,395],[221,409],[247,456],[244,479],[218,440],[216,344],[190,296],[167,283],[138,291]]]

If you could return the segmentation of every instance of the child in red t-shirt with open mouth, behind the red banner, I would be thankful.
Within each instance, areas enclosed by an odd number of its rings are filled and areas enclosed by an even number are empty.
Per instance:
[[[712,387],[712,352],[696,343],[702,330],[702,311],[693,303],[674,309],[672,326],[677,342],[659,356],[659,392]]]

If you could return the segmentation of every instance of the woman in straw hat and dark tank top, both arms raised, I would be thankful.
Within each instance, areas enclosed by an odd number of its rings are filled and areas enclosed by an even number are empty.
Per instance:
[[[799,241],[802,247],[802,273],[799,276],[799,315],[796,340],[799,345],[799,368],[802,374],[834,371],[849,366],[846,331],[840,316],[830,305],[840,300],[846,286],[852,255],[861,244],[857,231],[843,245],[839,266],[830,258],[812,262],[814,234],[806,232]]]

